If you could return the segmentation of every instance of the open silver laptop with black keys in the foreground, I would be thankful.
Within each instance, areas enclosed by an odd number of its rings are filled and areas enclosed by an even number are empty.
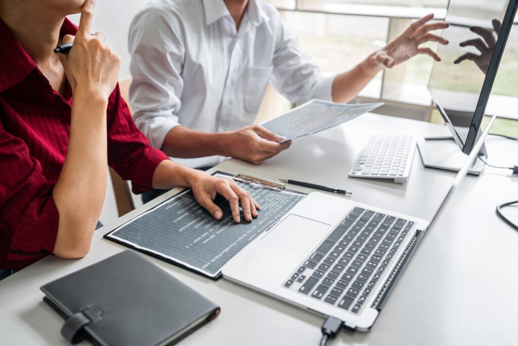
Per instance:
[[[476,159],[493,120],[452,188]],[[312,192],[227,262],[222,274],[365,331],[427,227],[428,222],[410,215]]]

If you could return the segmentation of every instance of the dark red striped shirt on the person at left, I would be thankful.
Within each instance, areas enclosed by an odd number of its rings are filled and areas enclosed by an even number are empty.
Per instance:
[[[61,34],[75,35],[65,19]],[[21,269],[52,253],[59,214],[52,188],[65,161],[72,94],[49,84],[0,19],[0,269]],[[157,165],[168,157],[149,146],[121,98],[107,109],[108,164],[133,191],[151,188]],[[81,196],[77,196],[81,198]]]

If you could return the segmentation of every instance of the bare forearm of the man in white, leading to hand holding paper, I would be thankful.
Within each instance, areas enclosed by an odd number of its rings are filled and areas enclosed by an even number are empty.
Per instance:
[[[228,156],[227,137],[228,132],[195,131],[179,125],[167,132],[161,149],[178,158]]]

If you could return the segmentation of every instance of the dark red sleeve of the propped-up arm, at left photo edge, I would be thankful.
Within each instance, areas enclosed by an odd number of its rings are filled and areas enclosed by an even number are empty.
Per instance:
[[[59,213],[52,199],[54,184],[29,153],[26,144],[0,123],[0,231],[8,260],[25,261],[54,251]],[[21,266],[23,267],[23,266]],[[13,268],[16,269],[16,268]]]

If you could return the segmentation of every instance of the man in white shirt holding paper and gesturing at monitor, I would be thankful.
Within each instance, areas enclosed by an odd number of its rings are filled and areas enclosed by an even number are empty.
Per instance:
[[[130,103],[155,148],[193,168],[223,157],[260,163],[290,146],[251,126],[268,82],[292,103],[347,102],[383,68],[436,53],[419,45],[447,23],[413,23],[352,70],[324,75],[264,0],[153,0],[130,26]],[[310,25],[310,23],[309,23]]]

